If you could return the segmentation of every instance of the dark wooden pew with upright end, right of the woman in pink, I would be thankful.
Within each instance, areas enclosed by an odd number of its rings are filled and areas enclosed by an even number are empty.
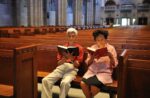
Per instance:
[[[150,50],[125,50],[119,65],[118,98],[149,98]]]

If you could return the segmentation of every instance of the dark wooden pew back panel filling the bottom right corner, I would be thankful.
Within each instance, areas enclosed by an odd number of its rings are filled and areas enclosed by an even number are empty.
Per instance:
[[[150,98],[150,60],[128,59],[124,98]]]

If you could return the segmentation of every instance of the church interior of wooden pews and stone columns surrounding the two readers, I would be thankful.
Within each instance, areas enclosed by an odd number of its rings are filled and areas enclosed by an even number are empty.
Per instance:
[[[114,92],[94,98],[150,98],[150,0],[0,0],[0,98],[42,98],[42,79],[58,66],[57,45],[67,42],[68,28],[84,48],[95,43],[95,30],[107,30],[117,52],[106,84]],[[80,82],[87,56],[67,98],[86,98]],[[60,98],[60,81],[52,93]]]

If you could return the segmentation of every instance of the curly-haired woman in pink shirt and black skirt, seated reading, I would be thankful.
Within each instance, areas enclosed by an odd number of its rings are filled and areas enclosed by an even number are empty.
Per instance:
[[[108,90],[105,84],[113,82],[112,71],[118,64],[115,48],[107,43],[108,31],[96,30],[93,37],[96,44],[91,48],[96,50],[107,48],[107,52],[101,56],[99,52],[88,54],[86,63],[89,68],[80,84],[86,98],[94,97],[100,90]]]

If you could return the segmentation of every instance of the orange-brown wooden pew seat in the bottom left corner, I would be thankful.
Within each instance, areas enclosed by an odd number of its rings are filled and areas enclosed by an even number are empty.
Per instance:
[[[0,98],[13,98],[13,86],[0,84]]]

